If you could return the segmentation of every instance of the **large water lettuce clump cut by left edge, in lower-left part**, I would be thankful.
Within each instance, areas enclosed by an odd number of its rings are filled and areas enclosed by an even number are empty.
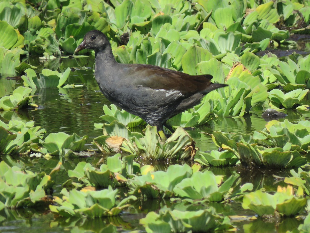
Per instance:
[[[45,190],[55,182],[55,171],[32,172],[0,162],[0,209],[24,208],[51,203]]]

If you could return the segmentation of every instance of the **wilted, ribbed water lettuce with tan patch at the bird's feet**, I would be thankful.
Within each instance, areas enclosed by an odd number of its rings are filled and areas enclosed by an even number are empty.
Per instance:
[[[93,140],[102,152],[122,150],[140,156],[142,159],[185,159],[193,158],[196,153],[193,139],[182,128],[162,143],[156,127],[147,126],[145,135],[130,132],[126,126],[117,121],[104,124],[104,135]],[[116,137],[117,136],[117,137]]]

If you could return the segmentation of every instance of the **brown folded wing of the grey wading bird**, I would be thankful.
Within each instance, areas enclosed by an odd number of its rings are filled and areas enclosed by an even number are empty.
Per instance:
[[[184,96],[197,92],[207,93],[212,89],[212,75],[188,75],[179,71],[159,66],[131,64],[128,70],[132,77],[131,85],[149,87],[151,89],[176,90]],[[211,89],[210,89],[211,88]]]

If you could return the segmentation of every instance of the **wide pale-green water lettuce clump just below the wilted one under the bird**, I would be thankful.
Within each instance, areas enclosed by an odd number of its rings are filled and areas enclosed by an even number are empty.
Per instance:
[[[238,176],[230,176],[223,182],[223,176],[211,171],[193,171],[188,165],[170,165],[166,172],[148,172],[127,180],[130,194],[148,198],[170,198],[172,196],[193,200],[221,202],[228,194]]]

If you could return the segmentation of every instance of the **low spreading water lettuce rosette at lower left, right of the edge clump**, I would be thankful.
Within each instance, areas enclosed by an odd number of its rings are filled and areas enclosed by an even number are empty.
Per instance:
[[[51,212],[63,217],[101,218],[115,216],[130,206],[126,203],[137,199],[135,196],[129,196],[117,203],[118,193],[119,191],[113,190],[111,186],[108,189],[98,191],[89,187],[80,191],[62,189],[60,192],[63,195],[62,199],[55,196],[53,200],[58,205],[50,205],[49,207]]]

